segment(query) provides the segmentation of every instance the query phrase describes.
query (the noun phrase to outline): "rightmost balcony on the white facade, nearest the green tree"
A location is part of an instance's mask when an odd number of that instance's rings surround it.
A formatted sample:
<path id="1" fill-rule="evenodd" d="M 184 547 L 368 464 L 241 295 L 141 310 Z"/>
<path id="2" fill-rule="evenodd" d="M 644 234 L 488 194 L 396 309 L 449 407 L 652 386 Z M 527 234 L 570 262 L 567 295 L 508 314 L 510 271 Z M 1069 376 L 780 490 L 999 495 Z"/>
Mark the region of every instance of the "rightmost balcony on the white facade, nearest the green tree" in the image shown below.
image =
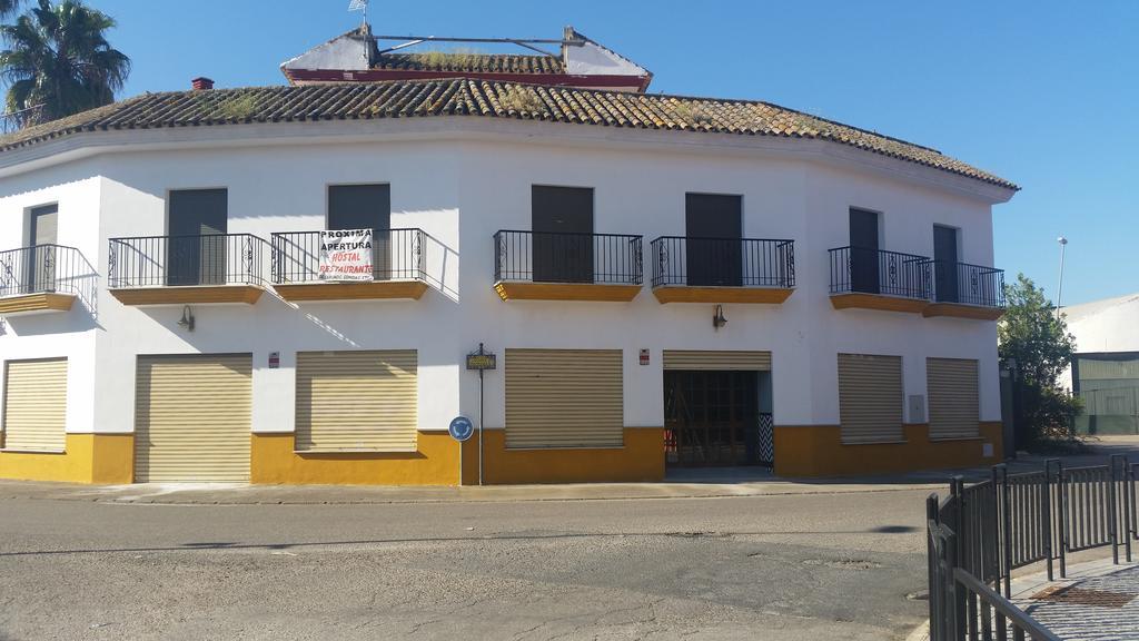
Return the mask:
<path id="1" fill-rule="evenodd" d="M 974 320 L 1005 315 L 1005 270 L 967 262 L 933 261 L 934 302 L 921 314 Z"/>

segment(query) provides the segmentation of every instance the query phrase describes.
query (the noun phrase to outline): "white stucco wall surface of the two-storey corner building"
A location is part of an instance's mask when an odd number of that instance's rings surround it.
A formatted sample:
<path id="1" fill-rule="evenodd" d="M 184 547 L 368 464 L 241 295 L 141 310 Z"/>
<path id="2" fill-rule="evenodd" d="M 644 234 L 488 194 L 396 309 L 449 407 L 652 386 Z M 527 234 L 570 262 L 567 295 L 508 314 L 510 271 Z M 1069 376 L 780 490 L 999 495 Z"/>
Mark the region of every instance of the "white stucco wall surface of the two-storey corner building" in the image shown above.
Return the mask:
<path id="1" fill-rule="evenodd" d="M 167 143 L 62 165 L 66 171 L 0 179 L 0 248 L 23 244 L 13 232 L 23 208 L 59 198 L 60 242 L 82 246 L 105 271 L 108 237 L 166 233 L 170 189 L 227 187 L 229 232 L 269 240 L 273 232 L 322 228 L 328 185 L 387 182 L 392 226 L 420 227 L 437 241 L 436 255 L 443 258 L 431 269 L 442 286 L 419 301 L 296 306 L 269 292 L 255 306 L 194 306 L 192 333 L 177 325 L 180 306 L 126 307 L 101 291 L 98 325 L 77 332 L 88 340 L 83 346 L 44 330 L 59 325 L 21 332 L 9 323 L 0 336 L 3 358 L 65 351 L 75 354 L 73 371 L 85 367 L 85 379 L 73 378 L 72 403 L 79 404 L 73 414 L 81 419 L 69 419 L 69 430 L 132 430 L 137 355 L 251 352 L 254 430 L 272 432 L 294 428 L 296 351 L 408 348 L 419 352 L 420 429 L 441 430 L 458 413 L 477 414 L 477 376 L 461 363 L 480 342 L 499 354 L 500 367 L 511 347 L 623 349 L 629 427 L 663 424 L 664 349 L 770 350 L 780 425 L 837 424 L 839 351 L 901 355 L 907 395 L 925 393 L 926 357 L 976 358 L 980 419 L 1000 417 L 994 323 L 836 311 L 828 298 L 827 250 L 849 244 L 851 206 L 883 213 L 883 249 L 932 255 L 936 222 L 961 228 L 962 260 L 991 265 L 990 204 L 962 195 L 967 189 L 954 188 L 960 182 L 954 177 L 940 188 L 933 170 L 891 173 L 882 170 L 887 161 L 875 159 L 871 164 L 882 167 L 863 170 L 812 153 L 710 145 L 711 138 L 690 133 L 647 136 L 653 144 L 642 145 L 605 131 L 591 131 L 590 140 L 562 137 L 568 130 L 556 127 L 548 136 L 451 132 L 415 141 L 288 140 L 274 139 L 274 129 L 230 131 L 256 136 L 215 148 Z M 491 238 L 498 229 L 531 227 L 534 184 L 592 187 L 595 230 L 642 235 L 646 279 L 649 241 L 683 235 L 686 192 L 739 194 L 746 237 L 795 241 L 797 289 L 781 306 L 726 305 L 729 323 L 720 331 L 712 327 L 713 306 L 662 306 L 648 286 L 631 303 L 502 302 L 492 289 Z M 43 193 L 32 193 L 36 187 Z M 67 241 L 71 235 L 82 238 Z M 75 313 L 51 323 L 82 326 Z M 648 366 L 638 364 L 642 348 L 652 352 Z M 272 351 L 281 355 L 279 370 L 268 368 Z M 75 391 L 80 382 L 83 389 Z M 503 424 L 503 391 L 501 368 L 489 373 L 487 428 Z"/>

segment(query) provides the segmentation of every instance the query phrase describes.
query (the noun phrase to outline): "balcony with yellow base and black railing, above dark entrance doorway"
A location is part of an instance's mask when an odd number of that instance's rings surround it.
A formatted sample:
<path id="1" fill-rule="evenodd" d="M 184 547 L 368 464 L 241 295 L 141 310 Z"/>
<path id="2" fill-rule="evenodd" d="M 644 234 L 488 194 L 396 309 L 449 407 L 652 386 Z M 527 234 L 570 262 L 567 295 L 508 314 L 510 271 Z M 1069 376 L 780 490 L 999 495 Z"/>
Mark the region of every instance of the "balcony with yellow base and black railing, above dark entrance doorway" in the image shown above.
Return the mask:
<path id="1" fill-rule="evenodd" d="M 662 236 L 650 251 L 662 303 L 779 305 L 795 291 L 793 241 Z"/>

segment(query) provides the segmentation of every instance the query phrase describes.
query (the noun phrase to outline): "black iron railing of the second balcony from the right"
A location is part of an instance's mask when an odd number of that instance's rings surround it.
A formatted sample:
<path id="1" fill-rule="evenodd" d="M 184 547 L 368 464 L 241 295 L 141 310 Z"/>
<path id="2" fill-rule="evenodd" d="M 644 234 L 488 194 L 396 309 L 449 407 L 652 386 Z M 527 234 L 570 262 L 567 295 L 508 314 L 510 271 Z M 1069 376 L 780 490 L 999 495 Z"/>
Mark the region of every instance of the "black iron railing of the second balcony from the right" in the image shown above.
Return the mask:
<path id="1" fill-rule="evenodd" d="M 931 260 L 868 248 L 830 250 L 830 293 L 867 293 L 928 299 Z"/>

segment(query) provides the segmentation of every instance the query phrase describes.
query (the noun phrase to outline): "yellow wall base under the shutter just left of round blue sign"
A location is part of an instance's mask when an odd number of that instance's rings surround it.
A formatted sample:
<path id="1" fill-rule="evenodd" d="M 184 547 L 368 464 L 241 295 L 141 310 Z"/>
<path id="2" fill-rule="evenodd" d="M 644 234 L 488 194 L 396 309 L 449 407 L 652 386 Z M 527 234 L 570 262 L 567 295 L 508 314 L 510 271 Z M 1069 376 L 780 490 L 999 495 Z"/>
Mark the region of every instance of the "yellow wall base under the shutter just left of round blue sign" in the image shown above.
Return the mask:
<path id="1" fill-rule="evenodd" d="M 296 453 L 292 433 L 253 435 L 255 484 L 457 485 L 459 444 L 446 432 L 419 432 L 417 452 Z"/>

